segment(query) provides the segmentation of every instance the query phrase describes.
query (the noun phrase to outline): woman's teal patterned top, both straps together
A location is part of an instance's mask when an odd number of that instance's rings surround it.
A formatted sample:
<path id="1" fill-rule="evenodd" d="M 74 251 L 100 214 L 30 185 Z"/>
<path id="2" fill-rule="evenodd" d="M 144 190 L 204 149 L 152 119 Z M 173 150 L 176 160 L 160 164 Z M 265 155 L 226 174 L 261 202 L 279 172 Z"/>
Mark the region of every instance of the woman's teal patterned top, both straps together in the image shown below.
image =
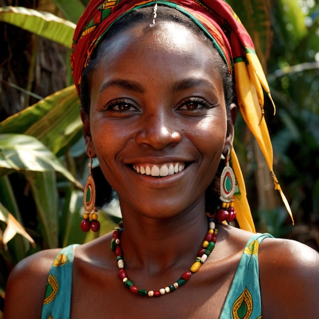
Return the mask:
<path id="1" fill-rule="evenodd" d="M 220 319 L 259 319 L 261 299 L 259 287 L 258 248 L 270 234 L 254 234 L 248 241 L 238 264 Z M 72 288 L 72 264 L 78 245 L 63 248 L 52 263 L 41 319 L 69 319 Z"/>

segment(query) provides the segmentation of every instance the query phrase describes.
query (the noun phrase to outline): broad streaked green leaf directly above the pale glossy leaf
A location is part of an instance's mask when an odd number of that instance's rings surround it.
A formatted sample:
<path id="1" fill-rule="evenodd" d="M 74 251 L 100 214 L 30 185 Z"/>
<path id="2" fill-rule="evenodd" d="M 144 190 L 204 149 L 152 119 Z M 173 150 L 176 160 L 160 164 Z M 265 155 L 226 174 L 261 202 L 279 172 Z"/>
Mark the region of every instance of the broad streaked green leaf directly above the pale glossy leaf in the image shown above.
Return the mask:
<path id="1" fill-rule="evenodd" d="M 82 121 L 75 86 L 72 85 L 0 123 L 0 134 L 18 133 L 37 138 L 55 154 L 82 137 Z"/>

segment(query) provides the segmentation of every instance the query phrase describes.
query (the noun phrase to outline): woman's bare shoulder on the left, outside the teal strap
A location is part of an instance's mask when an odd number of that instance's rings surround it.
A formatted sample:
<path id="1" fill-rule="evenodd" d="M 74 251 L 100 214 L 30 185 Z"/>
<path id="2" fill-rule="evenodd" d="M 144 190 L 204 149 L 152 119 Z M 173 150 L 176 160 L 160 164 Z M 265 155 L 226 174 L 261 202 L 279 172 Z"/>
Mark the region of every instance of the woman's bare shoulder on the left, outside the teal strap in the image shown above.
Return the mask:
<path id="1" fill-rule="evenodd" d="M 47 276 L 59 249 L 44 250 L 21 260 L 6 285 L 5 318 L 40 318 Z"/>

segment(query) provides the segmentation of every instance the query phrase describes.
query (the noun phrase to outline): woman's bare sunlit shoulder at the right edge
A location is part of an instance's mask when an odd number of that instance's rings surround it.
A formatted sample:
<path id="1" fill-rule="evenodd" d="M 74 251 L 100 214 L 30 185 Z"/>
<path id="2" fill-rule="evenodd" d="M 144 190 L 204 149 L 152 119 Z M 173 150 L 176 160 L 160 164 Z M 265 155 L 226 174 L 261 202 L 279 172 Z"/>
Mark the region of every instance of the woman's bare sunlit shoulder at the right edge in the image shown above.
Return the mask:
<path id="1" fill-rule="evenodd" d="M 259 249 L 263 317 L 313 318 L 319 314 L 319 254 L 292 240 L 264 240 Z"/>

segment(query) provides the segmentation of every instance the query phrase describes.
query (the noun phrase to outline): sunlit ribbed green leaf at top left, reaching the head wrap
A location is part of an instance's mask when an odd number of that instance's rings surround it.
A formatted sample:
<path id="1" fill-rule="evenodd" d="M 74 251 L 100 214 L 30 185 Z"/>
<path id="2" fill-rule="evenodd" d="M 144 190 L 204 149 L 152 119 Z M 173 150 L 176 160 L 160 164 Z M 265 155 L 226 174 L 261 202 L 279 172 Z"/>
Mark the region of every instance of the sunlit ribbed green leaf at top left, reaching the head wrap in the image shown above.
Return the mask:
<path id="1" fill-rule="evenodd" d="M 72 45 L 75 24 L 54 14 L 9 6 L 0 8 L 0 21 L 19 26 L 66 47 Z"/>

